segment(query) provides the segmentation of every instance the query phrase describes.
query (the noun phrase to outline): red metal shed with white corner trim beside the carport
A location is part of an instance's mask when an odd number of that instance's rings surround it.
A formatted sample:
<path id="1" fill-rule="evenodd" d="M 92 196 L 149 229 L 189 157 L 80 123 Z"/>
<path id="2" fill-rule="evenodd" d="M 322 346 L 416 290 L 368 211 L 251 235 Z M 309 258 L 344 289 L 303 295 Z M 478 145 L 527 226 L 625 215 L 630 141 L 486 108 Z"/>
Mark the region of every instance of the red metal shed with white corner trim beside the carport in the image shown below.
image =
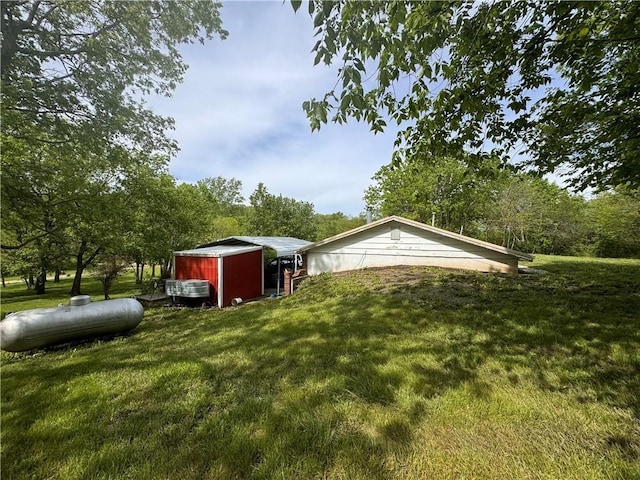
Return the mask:
<path id="1" fill-rule="evenodd" d="M 173 278 L 208 280 L 211 303 L 231 305 L 234 298 L 264 294 L 262 247 L 217 246 L 173 254 Z"/>

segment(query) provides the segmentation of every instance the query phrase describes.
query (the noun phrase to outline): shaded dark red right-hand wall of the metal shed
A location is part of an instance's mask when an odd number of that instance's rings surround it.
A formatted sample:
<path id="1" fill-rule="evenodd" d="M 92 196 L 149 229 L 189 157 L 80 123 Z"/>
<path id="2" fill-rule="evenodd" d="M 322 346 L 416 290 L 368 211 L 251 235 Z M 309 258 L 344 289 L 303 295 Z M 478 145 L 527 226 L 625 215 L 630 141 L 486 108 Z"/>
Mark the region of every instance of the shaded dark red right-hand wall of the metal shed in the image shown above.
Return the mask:
<path id="1" fill-rule="evenodd" d="M 262 250 L 224 257 L 223 261 L 222 306 L 231 305 L 235 297 L 247 300 L 262 295 Z"/>

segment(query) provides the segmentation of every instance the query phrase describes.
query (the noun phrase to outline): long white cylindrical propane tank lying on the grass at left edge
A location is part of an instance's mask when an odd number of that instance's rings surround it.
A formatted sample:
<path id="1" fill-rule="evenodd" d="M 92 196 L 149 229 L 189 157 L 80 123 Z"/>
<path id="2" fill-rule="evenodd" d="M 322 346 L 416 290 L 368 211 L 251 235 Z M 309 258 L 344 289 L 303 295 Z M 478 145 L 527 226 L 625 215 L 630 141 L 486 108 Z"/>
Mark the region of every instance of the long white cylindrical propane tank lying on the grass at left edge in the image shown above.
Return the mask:
<path id="1" fill-rule="evenodd" d="M 71 340 L 126 332 L 142 321 L 144 308 L 133 298 L 91 303 L 88 295 L 69 305 L 10 313 L 0 321 L 0 348 L 24 352 Z"/>

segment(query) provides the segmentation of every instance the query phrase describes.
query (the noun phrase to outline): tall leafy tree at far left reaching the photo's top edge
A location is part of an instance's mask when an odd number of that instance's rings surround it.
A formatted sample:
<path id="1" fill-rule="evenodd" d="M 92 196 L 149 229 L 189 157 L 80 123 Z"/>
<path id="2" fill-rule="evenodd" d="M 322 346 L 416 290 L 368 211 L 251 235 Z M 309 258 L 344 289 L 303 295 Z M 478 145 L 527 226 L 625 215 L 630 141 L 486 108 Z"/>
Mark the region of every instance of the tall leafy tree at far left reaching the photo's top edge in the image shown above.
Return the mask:
<path id="1" fill-rule="evenodd" d="M 84 269 L 125 246 L 124 181 L 142 167 L 162 173 L 168 157 L 158 153 L 175 148 L 166 137 L 172 120 L 146 108 L 145 97 L 168 96 L 182 79 L 179 44 L 226 37 L 219 8 L 0 3 L 3 229 L 10 232 L 2 248 L 29 249 L 40 292 L 60 258 L 75 260 L 77 294 Z"/>

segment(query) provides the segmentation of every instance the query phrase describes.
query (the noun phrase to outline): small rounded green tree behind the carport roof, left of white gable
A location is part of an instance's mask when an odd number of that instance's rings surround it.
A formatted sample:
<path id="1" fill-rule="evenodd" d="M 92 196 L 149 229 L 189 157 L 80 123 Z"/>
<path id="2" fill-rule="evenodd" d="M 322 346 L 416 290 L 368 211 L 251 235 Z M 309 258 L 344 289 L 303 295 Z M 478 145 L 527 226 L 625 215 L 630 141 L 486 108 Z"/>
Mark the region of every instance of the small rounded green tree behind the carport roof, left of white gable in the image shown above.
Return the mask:
<path id="1" fill-rule="evenodd" d="M 311 203 L 272 195 L 263 183 L 258 184 L 249 202 L 250 235 L 315 238 L 315 213 Z"/>

